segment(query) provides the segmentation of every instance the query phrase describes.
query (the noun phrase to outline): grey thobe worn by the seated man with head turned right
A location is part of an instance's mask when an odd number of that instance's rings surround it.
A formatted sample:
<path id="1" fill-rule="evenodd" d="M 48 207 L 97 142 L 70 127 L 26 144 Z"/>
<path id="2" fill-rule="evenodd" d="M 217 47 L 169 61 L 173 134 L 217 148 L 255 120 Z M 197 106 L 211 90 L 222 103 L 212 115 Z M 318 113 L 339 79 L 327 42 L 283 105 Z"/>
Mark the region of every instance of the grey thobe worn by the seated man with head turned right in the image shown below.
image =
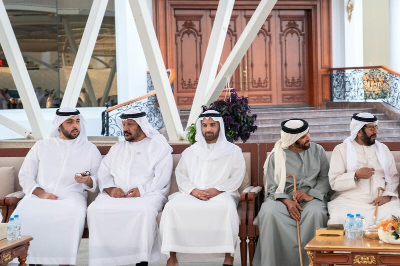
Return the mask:
<path id="1" fill-rule="evenodd" d="M 304 246 L 314 237 L 317 227 L 326 227 L 328 212 L 326 197 L 330 190 L 329 162 L 323 148 L 310 142 L 310 148 L 301 153 L 285 149 L 286 174 L 296 178 L 297 190 L 314 197 L 312 201 L 300 202 L 300 237 L 303 265 L 308 265 Z M 254 266 L 298 266 L 296 221 L 286 206 L 278 199 L 292 199 L 293 179 L 286 180 L 284 192 L 276 194 L 274 181 L 274 154 L 269 157 L 266 176 L 266 200 L 258 213 L 259 238 L 253 259 Z"/>

